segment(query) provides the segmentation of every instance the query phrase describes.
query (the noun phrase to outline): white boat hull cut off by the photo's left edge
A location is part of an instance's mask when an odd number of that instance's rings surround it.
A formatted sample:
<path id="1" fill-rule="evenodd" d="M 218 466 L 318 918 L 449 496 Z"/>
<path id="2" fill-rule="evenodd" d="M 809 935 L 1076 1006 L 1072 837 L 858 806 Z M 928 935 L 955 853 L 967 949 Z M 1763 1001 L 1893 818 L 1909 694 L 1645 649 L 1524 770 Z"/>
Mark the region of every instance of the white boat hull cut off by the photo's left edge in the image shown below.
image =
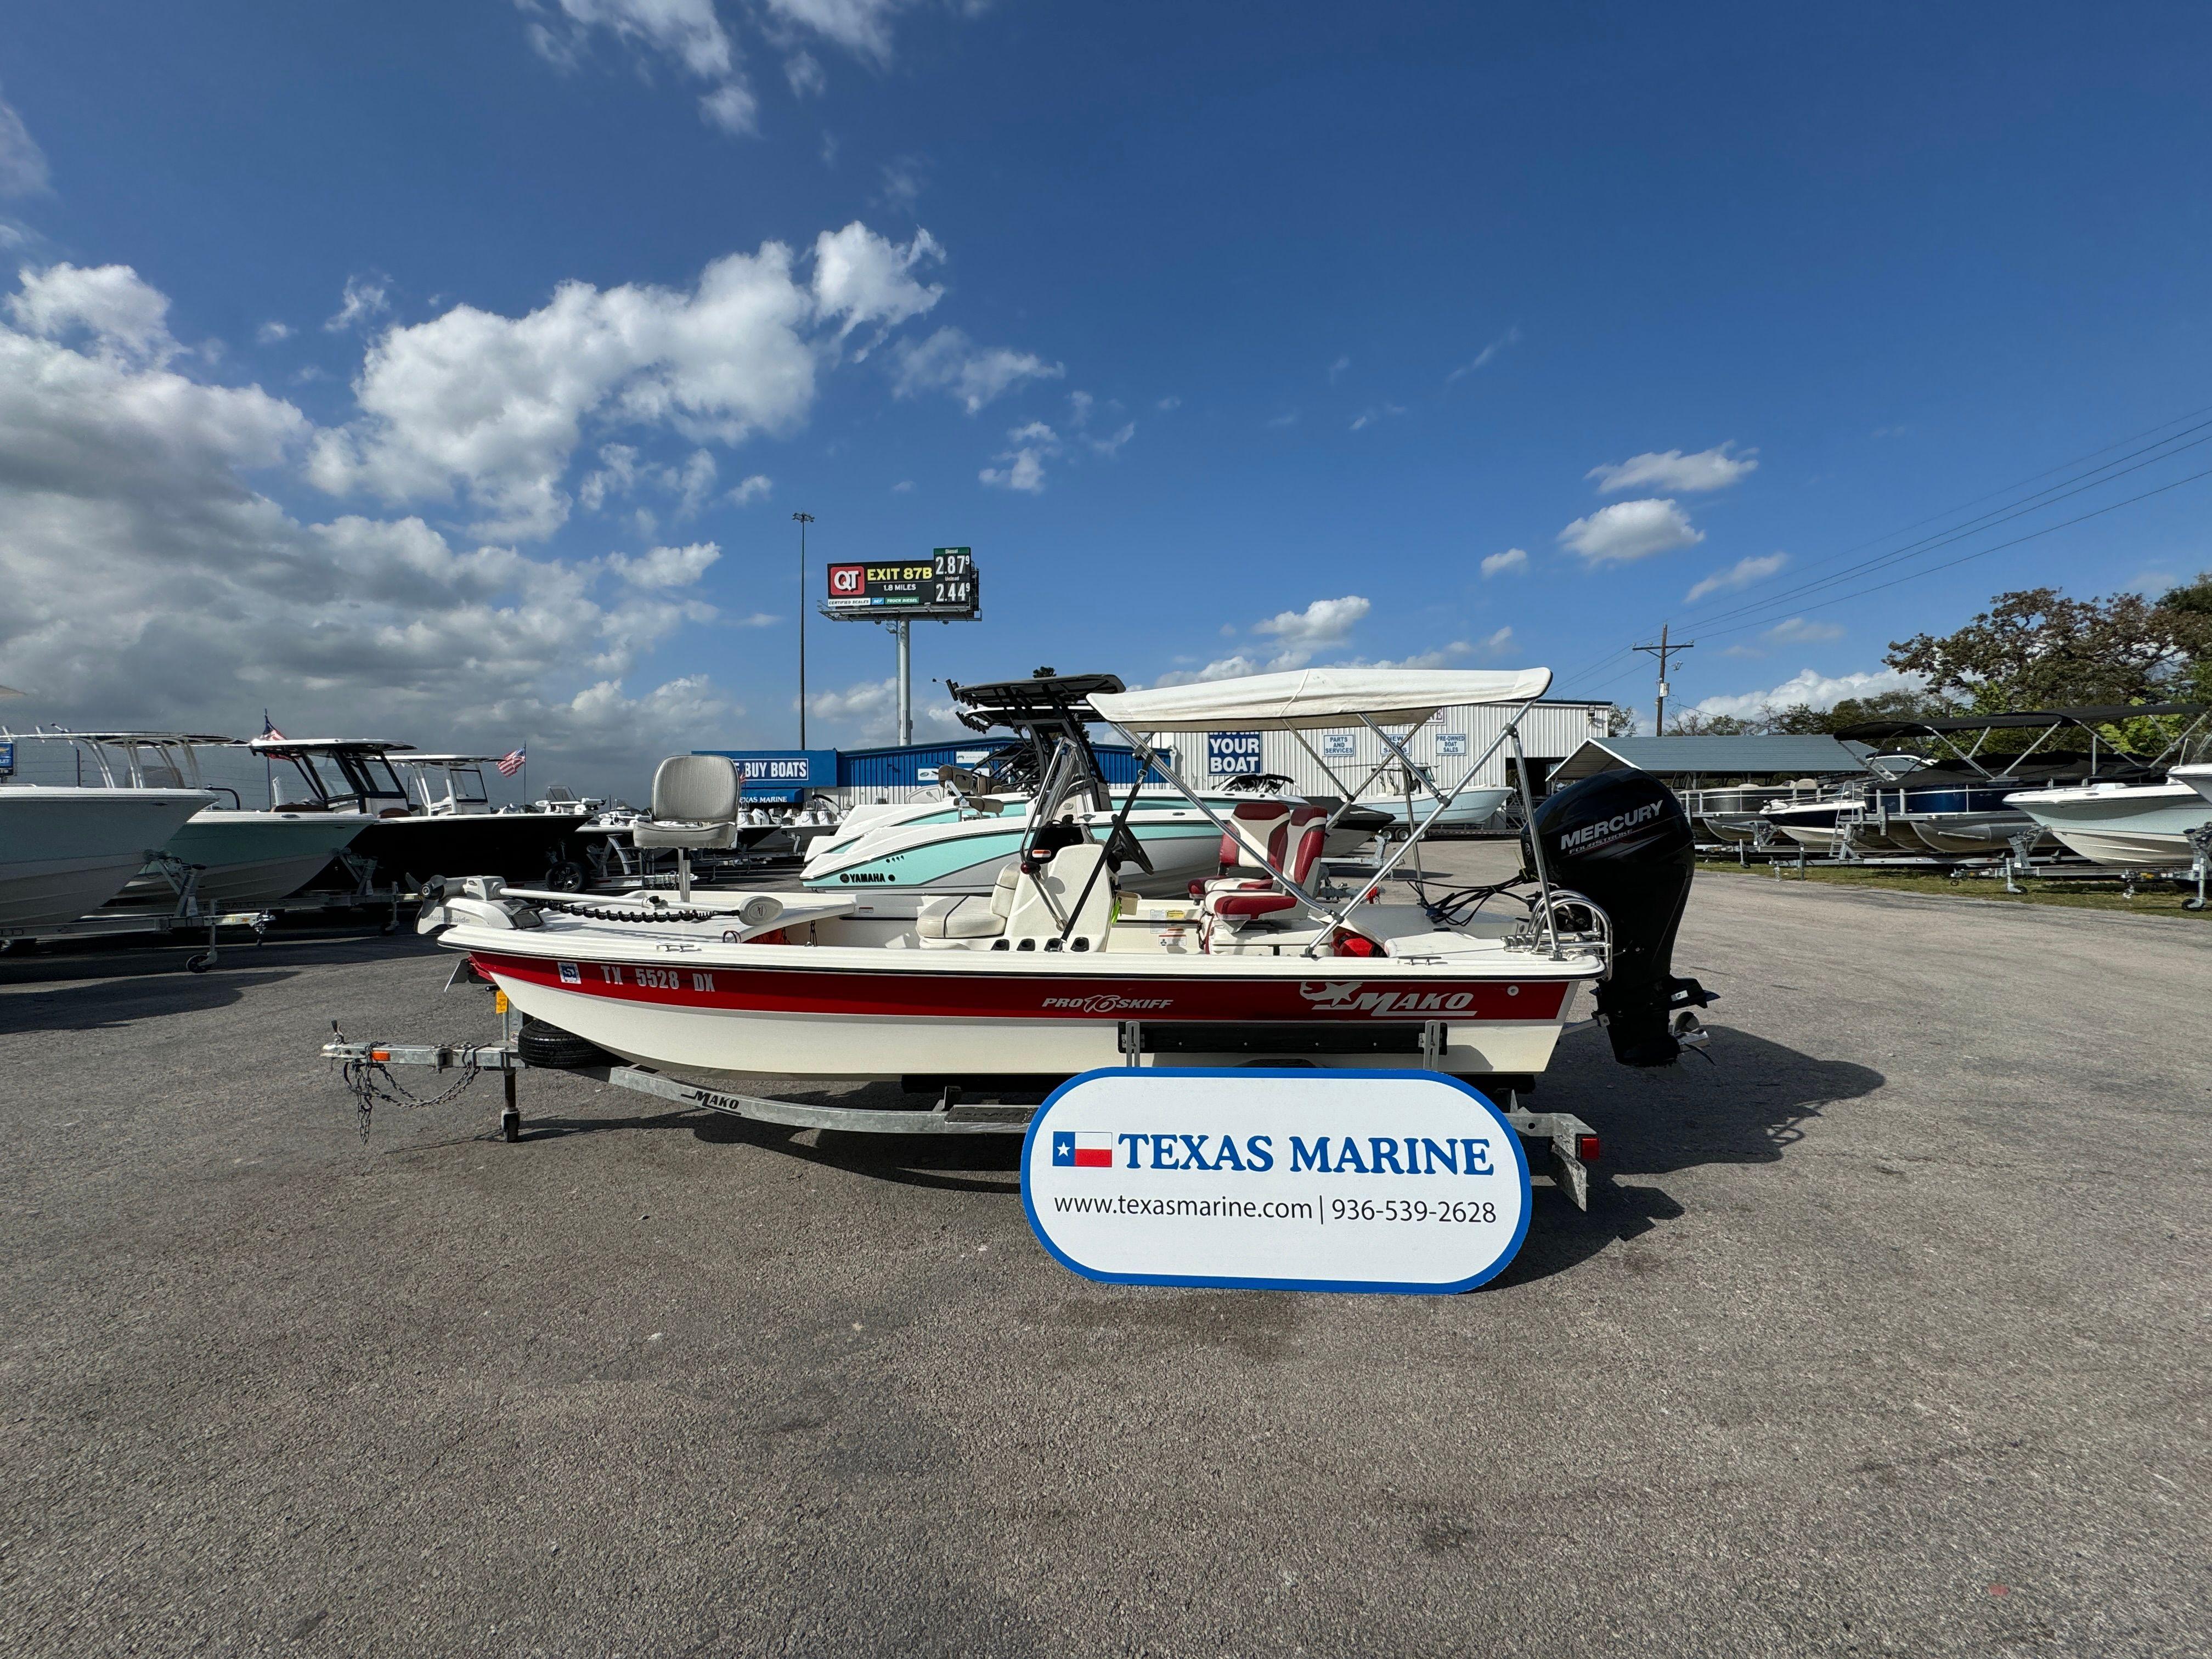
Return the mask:
<path id="1" fill-rule="evenodd" d="M 100 909 L 212 799 L 206 790 L 0 790 L 0 933 Z"/>

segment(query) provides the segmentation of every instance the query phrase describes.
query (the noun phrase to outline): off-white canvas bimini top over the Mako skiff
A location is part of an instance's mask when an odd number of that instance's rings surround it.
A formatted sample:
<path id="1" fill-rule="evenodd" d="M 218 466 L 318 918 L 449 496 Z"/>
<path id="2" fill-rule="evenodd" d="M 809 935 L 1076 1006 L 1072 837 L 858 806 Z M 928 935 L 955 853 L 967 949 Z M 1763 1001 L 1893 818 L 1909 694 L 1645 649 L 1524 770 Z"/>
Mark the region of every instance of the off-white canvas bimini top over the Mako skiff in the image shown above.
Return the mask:
<path id="1" fill-rule="evenodd" d="M 1148 692 L 1093 692 L 1091 706 L 1130 732 L 1316 732 L 1420 726 L 1440 708 L 1526 703 L 1551 688 L 1548 668 L 1298 668 Z"/>

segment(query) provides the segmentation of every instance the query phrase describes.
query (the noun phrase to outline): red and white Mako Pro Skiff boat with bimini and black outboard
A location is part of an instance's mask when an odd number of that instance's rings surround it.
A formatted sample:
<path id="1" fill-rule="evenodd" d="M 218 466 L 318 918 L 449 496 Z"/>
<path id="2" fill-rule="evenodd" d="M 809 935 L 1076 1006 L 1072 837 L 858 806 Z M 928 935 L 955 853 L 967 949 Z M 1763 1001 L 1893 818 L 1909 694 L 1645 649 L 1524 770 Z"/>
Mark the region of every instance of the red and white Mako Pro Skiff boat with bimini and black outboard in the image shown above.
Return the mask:
<path id="1" fill-rule="evenodd" d="M 1531 869 L 1517 883 L 1383 900 L 1391 869 L 1491 754 L 1520 752 L 1517 723 L 1548 684 L 1546 668 L 1314 668 L 1091 690 L 1139 776 L 1157 770 L 1210 825 L 1217 874 L 1175 898 L 1124 889 L 1117 865 L 1135 863 L 1124 832 L 1144 801 L 1130 785 L 1097 838 L 1091 825 L 1029 814 L 989 894 L 695 894 L 679 874 L 675 896 L 580 900 L 469 878 L 434 894 L 418 929 L 465 953 L 524 1015 L 637 1066 L 717 1079 L 1035 1086 L 1113 1064 L 1290 1057 L 1436 1068 L 1502 1093 L 1548 1064 L 1584 987 L 1619 1060 L 1666 1064 L 1699 1040 L 1694 1009 L 1708 998 L 1668 967 L 1692 860 L 1688 821 L 1657 781 L 1608 772 L 1531 803 Z M 1340 900 L 1312 885 L 1323 810 L 1245 801 L 1219 812 L 1152 748 L 1166 732 L 1418 726 L 1460 703 L 1515 710 Z M 723 757 L 668 759 L 639 843 L 728 845 L 741 794 Z M 1480 909 L 1504 894 L 1517 916 Z"/>

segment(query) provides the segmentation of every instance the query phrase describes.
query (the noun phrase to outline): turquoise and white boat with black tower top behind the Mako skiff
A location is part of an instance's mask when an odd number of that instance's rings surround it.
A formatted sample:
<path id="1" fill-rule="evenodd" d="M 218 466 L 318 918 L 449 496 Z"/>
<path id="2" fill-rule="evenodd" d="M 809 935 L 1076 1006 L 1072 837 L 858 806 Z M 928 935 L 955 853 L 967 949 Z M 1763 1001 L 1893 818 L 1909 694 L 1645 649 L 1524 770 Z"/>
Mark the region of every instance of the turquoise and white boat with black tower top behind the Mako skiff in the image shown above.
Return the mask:
<path id="1" fill-rule="evenodd" d="M 989 686 L 947 688 L 973 732 L 1013 732 L 973 768 L 938 768 L 945 801 L 858 805 L 814 841 L 801 880 L 821 889 L 894 889 L 989 894 L 1037 823 L 1064 821 L 1102 836 L 1115 821 L 1113 796 L 1088 726 L 1099 723 L 1095 692 L 1119 692 L 1115 675 L 1048 675 Z M 1206 794 L 1214 812 L 1243 801 L 1276 799 L 1287 779 L 1237 779 Z M 1489 792 L 1482 792 L 1489 794 Z M 1389 827 L 1389 816 L 1345 801 L 1301 796 L 1329 807 L 1325 852 L 1345 856 Z M 1491 803 L 1495 805 L 1495 803 Z M 1124 889 L 1144 896 L 1183 894 L 1192 880 L 1219 874 L 1221 834 L 1181 792 L 1139 783 L 1121 814 L 1115 858 Z"/>

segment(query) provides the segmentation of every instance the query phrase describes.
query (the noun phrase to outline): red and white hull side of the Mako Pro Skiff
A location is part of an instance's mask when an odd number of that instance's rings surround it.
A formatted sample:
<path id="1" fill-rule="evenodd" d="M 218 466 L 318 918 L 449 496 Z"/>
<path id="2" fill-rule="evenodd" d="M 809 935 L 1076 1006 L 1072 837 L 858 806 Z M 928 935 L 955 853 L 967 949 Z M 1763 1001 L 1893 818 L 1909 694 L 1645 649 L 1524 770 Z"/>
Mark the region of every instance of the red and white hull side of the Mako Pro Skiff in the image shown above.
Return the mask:
<path id="1" fill-rule="evenodd" d="M 1343 973 L 1338 962 L 1144 973 L 1066 958 L 1018 971 L 814 969 L 546 958 L 467 947 L 476 969 L 538 1020 L 637 1064 L 714 1075 L 838 1079 L 1037 1075 L 1126 1064 L 1121 1024 L 1444 1024 L 1440 1066 L 1462 1075 L 1537 1073 L 1551 1062 L 1575 980 L 1453 973 Z M 743 947 L 739 947 L 743 951 Z M 810 951 L 812 956 L 812 951 Z M 666 964 L 666 967 L 664 967 Z M 1316 1066 L 1416 1066 L 1411 1053 L 1298 1055 Z M 1237 1053 L 1175 1053 L 1161 1064 L 1245 1064 Z"/>

